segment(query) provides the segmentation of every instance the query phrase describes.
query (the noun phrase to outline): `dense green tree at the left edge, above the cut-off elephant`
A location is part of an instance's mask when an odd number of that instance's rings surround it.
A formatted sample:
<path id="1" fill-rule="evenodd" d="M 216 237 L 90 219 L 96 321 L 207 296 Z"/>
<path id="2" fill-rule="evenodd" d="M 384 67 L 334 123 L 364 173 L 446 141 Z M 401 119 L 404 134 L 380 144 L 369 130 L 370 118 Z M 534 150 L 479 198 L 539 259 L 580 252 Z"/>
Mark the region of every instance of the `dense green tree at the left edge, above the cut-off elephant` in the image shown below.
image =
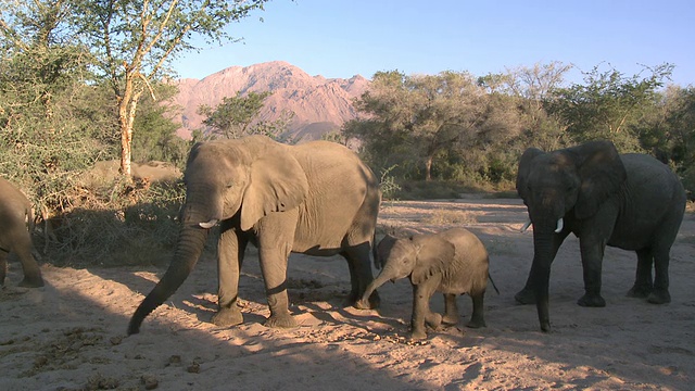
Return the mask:
<path id="1" fill-rule="evenodd" d="M 63 1 L 0 2 L 0 172 L 40 210 L 70 204 L 77 173 L 108 146 L 89 52 L 70 30 Z"/>

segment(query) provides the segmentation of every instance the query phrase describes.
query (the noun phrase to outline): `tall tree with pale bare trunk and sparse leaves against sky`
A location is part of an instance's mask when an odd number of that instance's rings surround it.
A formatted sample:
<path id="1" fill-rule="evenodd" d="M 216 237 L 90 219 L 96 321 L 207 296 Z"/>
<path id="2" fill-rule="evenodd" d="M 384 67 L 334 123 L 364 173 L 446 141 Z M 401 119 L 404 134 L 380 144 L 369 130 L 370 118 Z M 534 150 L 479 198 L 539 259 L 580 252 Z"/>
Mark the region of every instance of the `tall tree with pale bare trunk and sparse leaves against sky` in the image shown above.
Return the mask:
<path id="1" fill-rule="evenodd" d="M 225 27 L 268 0 L 77 0 L 74 23 L 94 50 L 98 73 L 109 80 L 117 104 L 121 172 L 130 177 L 135 116 L 151 85 L 173 75 L 170 61 L 194 49 L 192 38 L 207 42 L 232 39 Z"/>

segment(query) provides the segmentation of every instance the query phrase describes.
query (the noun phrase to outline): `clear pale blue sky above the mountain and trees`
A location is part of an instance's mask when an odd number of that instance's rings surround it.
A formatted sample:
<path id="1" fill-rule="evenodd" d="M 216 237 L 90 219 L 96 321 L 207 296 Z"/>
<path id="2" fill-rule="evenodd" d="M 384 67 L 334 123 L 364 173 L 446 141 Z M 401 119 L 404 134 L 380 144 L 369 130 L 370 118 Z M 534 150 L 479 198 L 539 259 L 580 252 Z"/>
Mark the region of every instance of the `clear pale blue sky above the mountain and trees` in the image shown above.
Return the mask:
<path id="1" fill-rule="evenodd" d="M 260 18 L 263 17 L 263 22 Z M 467 71 L 477 76 L 559 61 L 580 71 L 675 65 L 695 85 L 693 0 L 273 0 L 229 26 L 243 42 L 203 42 L 174 63 L 203 78 L 233 65 L 281 60 L 309 75 L 349 78 Z"/>

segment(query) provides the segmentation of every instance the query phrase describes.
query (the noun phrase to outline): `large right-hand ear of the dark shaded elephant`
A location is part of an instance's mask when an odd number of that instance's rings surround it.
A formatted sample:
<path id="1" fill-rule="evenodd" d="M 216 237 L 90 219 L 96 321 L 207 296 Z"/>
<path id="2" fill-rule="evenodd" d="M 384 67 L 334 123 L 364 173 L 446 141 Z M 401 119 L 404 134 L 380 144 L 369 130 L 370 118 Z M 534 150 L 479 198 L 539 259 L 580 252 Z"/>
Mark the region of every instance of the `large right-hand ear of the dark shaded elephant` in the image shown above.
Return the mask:
<path id="1" fill-rule="evenodd" d="M 616 146 L 610 141 L 591 141 L 582 146 L 568 148 L 578 162 L 581 179 L 574 215 L 587 218 L 598 212 L 598 207 L 608 198 L 620 191 L 628 178 Z"/>

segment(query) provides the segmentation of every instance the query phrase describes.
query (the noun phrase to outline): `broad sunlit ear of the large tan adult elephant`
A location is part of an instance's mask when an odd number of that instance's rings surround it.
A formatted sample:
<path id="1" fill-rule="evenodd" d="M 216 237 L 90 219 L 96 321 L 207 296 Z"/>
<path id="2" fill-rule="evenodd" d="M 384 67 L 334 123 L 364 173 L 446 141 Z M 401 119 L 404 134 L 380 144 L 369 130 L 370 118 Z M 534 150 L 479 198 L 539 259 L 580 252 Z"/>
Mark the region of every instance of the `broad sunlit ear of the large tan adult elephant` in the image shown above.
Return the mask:
<path id="1" fill-rule="evenodd" d="M 241 229 L 248 230 L 270 212 L 300 205 L 308 193 L 308 180 L 300 163 L 283 150 L 264 153 L 251 164 L 241 202 Z"/>

